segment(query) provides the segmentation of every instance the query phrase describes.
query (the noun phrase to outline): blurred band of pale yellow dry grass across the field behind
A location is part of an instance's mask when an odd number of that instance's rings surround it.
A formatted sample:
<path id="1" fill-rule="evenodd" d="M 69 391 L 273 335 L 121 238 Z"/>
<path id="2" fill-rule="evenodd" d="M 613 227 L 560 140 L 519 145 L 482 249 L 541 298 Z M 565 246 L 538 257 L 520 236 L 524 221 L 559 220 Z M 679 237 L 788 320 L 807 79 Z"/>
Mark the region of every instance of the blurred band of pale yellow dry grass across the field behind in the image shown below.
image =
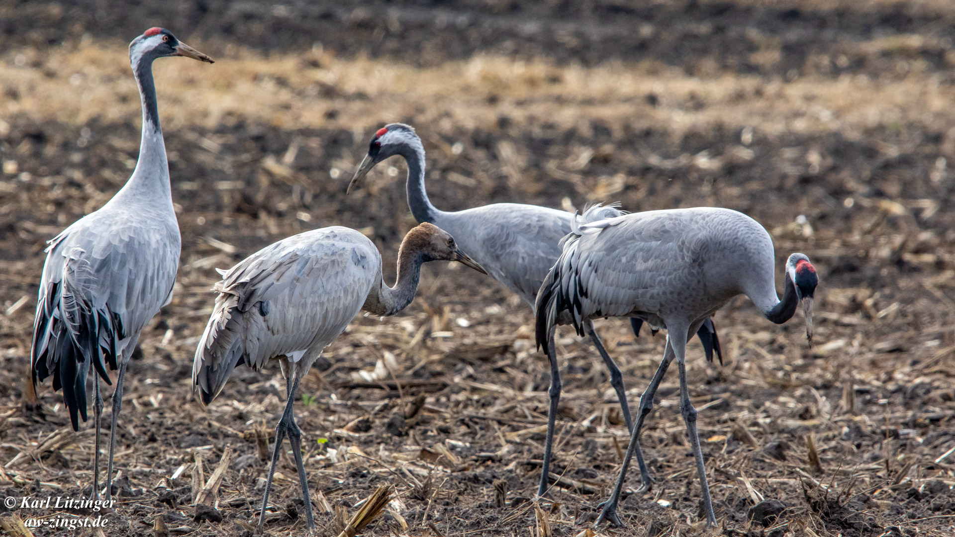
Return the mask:
<path id="1" fill-rule="evenodd" d="M 848 54 L 878 55 L 923 41 L 920 35 L 882 38 Z M 778 46 L 773 40 L 767 54 L 777 54 Z M 839 132 L 858 140 L 873 128 L 951 122 L 955 100 L 955 88 L 926 74 L 920 59 L 906 60 L 902 79 L 843 75 L 783 82 L 729 74 L 701 78 L 649 61 L 585 68 L 478 55 L 416 68 L 388 60 L 341 60 L 320 50 L 264 57 L 227 47 L 215 53 L 218 62 L 211 66 L 183 59 L 157 62 L 167 130 L 245 120 L 286 129 L 366 131 L 409 118 L 441 130 L 473 130 L 494 128 L 503 116 L 519 123 L 546 118 L 560 128 L 581 118 L 618 129 L 666 124 L 676 138 L 688 130 L 750 126 L 771 136 Z M 127 53 L 115 42 L 11 51 L 2 59 L 0 84 L 18 96 L 4 103 L 7 114 L 72 124 L 138 116 Z"/>

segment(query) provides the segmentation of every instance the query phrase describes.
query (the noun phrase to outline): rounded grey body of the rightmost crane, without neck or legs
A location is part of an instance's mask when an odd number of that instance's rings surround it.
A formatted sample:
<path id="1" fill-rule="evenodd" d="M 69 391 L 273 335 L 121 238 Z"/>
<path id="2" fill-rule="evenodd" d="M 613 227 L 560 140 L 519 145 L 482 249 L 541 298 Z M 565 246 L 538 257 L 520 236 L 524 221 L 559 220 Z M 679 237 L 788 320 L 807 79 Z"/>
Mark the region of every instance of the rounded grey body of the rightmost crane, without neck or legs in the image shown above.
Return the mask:
<path id="1" fill-rule="evenodd" d="M 742 213 L 646 211 L 585 224 L 580 233 L 568 238 L 555 270 L 579 333 L 597 317 L 692 324 L 741 293 L 762 311 L 778 302 L 773 241 Z"/>

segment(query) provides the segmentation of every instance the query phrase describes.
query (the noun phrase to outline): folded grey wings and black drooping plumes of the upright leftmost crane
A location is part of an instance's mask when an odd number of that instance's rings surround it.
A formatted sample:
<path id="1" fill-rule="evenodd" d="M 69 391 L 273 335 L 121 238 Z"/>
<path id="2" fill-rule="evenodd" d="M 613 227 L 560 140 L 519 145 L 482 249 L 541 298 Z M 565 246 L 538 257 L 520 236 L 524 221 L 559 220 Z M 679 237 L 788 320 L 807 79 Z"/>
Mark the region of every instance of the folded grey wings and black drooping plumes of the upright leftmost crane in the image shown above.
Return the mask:
<path id="1" fill-rule="evenodd" d="M 91 365 L 111 383 L 106 365 L 117 369 L 128 343 L 169 302 L 180 257 L 178 227 L 96 216 L 50 241 L 33 325 L 33 383 L 53 373 L 74 429 L 77 414 L 87 418 Z"/>

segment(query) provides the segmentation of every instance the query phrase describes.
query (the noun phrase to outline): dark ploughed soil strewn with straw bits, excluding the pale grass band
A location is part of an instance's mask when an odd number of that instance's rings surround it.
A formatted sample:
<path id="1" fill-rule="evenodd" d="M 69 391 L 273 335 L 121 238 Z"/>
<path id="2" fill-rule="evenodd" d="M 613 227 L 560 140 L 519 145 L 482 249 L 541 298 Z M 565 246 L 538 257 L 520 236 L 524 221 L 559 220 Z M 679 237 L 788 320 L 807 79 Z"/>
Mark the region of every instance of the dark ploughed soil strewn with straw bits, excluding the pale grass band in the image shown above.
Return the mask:
<path id="1" fill-rule="evenodd" d="M 944 58 L 952 54 L 953 27 L 946 21 L 955 16 L 886 3 L 865 11 L 731 2 L 589 2 L 586 9 L 518 1 L 114 4 L 4 1 L 0 48 L 58 47 L 85 32 L 127 40 L 161 23 L 183 39 L 287 54 L 320 41 L 346 56 L 421 64 L 495 52 L 584 64 L 649 59 L 688 73 L 712 66 L 704 61 L 709 59 L 717 71 L 770 79 L 792 70 L 801 75 L 810 56 L 838 58 L 845 54 L 840 47 L 857 50 L 850 45 L 860 40 L 914 33 L 931 37 L 924 49 L 859 53 L 845 67 L 812 75 L 892 77 L 898 72 L 886 66 L 900 54 L 920 54 L 941 58 L 929 63 L 939 83 L 948 83 Z M 643 25 L 652 32 L 640 30 Z M 782 39 L 778 61 L 749 63 L 751 29 Z M 105 202 L 128 176 L 124 161 L 137 157 L 128 140 L 138 140 L 138 118 L 84 125 L 88 136 L 65 122 L 0 118 L 10 127 L 0 136 L 0 157 L 16 161 L 18 170 L 0 176 L 0 301 L 11 309 L 0 314 L 0 462 L 7 464 L 0 486 L 13 497 L 78 497 L 89 493 L 92 481 L 93 435 L 89 423 L 70 432 L 61 396 L 49 385 L 31 400 L 33 297 L 45 241 Z M 414 123 L 414 117 L 408 120 Z M 579 127 L 565 130 L 545 119 L 518 124 L 506 118 L 496 130 L 430 129 L 430 193 L 441 208 L 504 201 L 560 207 L 564 198 L 580 207 L 602 179 L 621 173 L 626 179 L 607 201 L 634 211 L 731 207 L 773 233 L 777 266 L 790 252 L 803 251 L 819 270 L 815 348 L 807 347 L 798 318 L 771 325 L 742 297 L 714 317 L 725 365 L 705 363 L 696 343 L 690 348 L 691 396 L 700 409 L 716 515 L 726 529 L 699 524 L 700 486 L 674 377 L 658 392 L 642 437 L 657 483 L 650 492 L 628 494 L 620 508 L 628 527 L 612 534 L 950 534 L 955 456 L 940 456 L 955 447 L 955 182 L 950 173 L 933 176 L 939 157 L 951 152 L 948 127 L 902 120 L 851 140 L 838 132 L 757 133 L 747 143 L 750 159 L 727 159 L 716 169 L 696 165 L 690 156 L 732 153 L 741 144 L 740 130 L 695 130 L 674 140 L 666 124 L 628 130 L 599 118 L 582 118 Z M 167 149 L 176 155 L 170 173 L 180 205 L 180 275 L 174 301 L 143 332 L 141 353 L 129 366 L 117 433 L 119 505 L 107 515 L 107 535 L 151 534 L 159 518 L 172 535 L 245 536 L 254 530 L 285 383 L 277 368 L 258 374 L 240 368 L 209 408 L 193 399 L 192 356 L 211 306 L 208 289 L 218 279 L 215 268 L 292 233 L 331 225 L 371 227 L 386 277 L 393 278 L 397 244 L 414 225 L 403 181 L 373 195 L 346 197 L 348 173 L 333 182 L 327 173 L 339 155 L 357 161 L 370 135 L 244 122 L 165 133 Z M 200 138 L 214 140 L 217 150 L 198 145 Z M 460 141 L 464 151 L 452 156 L 435 140 Z M 527 156 L 520 187 L 500 171 L 500 140 Z M 264 162 L 281 159 L 293 141 L 300 146 L 289 167 L 297 179 L 277 177 Z M 548 161 L 579 146 L 609 149 L 580 171 L 580 179 L 546 171 Z M 816 164 L 807 161 L 810 150 L 818 154 Z M 493 181 L 476 188 L 443 180 L 462 169 Z M 796 224 L 800 215 L 812 233 Z M 320 535 L 337 535 L 335 510 L 350 516 L 380 484 L 395 485 L 400 501 L 365 535 L 535 535 L 529 528 L 539 523 L 528 499 L 540 478 L 549 375 L 533 347 L 530 309 L 489 278 L 435 265 L 424 270 L 420 298 L 407 311 L 383 322 L 357 317 L 304 382 L 296 416 Z M 12 309 L 21 296 L 27 302 Z M 620 320 L 605 321 L 598 331 L 635 404 L 662 355 L 662 334 L 634 339 Z M 432 336 L 447 332 L 453 336 Z M 569 330 L 559 334 L 559 345 L 566 373 L 552 471 L 578 484 L 555 486 L 556 503 L 542 515 L 554 535 L 577 535 L 584 526 L 574 523 L 595 518 L 616 477 L 626 429 L 592 347 Z M 396 356 L 393 377 L 372 382 L 358 375 L 371 372 L 386 354 Z M 414 404 L 420 396 L 423 406 Z M 411 412 L 414 406 L 420 410 Z M 36 452 L 58 432 L 64 441 Z M 809 462 L 808 442 L 819 467 Z M 234 456 L 218 505 L 197 513 L 191 506 L 197 454 L 208 477 L 226 446 Z M 105 465 L 101 476 L 104 471 Z M 267 531 L 304 534 L 290 456 L 278 472 Z M 636 486 L 635 474 L 627 483 Z M 331 512 L 322 508 L 319 493 Z M 775 520 L 763 515 L 765 524 L 751 523 L 753 506 L 766 501 L 783 508 Z M 23 518 L 54 514 L 14 511 Z M 62 532 L 39 528 L 34 534 Z"/>

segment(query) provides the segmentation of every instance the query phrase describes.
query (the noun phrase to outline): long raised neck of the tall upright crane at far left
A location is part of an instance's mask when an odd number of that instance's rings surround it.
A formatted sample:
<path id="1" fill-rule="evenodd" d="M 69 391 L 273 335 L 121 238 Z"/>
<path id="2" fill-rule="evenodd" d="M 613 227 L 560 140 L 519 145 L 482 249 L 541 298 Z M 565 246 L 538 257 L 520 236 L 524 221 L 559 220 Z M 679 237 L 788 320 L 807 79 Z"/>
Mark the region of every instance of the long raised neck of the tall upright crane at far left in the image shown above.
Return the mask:
<path id="1" fill-rule="evenodd" d="M 138 201 L 150 205 L 162 204 L 158 208 L 172 209 L 169 163 L 166 161 L 162 129 L 159 128 L 156 85 L 153 83 L 153 59 L 150 54 L 142 54 L 134 59 L 133 75 L 136 77 L 139 98 L 142 101 L 142 137 L 139 141 L 136 169 L 117 194 L 117 198 L 127 204 Z"/>

